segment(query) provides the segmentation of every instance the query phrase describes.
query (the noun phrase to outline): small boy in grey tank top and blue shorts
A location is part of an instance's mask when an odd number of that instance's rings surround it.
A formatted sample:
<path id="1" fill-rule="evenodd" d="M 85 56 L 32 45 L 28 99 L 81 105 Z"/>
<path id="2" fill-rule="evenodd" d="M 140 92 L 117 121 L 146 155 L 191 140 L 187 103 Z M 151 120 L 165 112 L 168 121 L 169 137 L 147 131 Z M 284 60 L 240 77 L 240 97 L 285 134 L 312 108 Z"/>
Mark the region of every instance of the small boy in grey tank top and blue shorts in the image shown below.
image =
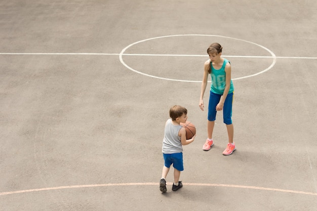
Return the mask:
<path id="1" fill-rule="evenodd" d="M 165 193 L 166 189 L 166 177 L 170 171 L 170 166 L 174 167 L 174 183 L 172 190 L 176 191 L 183 187 L 181 181 L 179 181 L 180 172 L 184 170 L 183 166 L 183 148 L 182 145 L 190 144 L 194 141 L 195 136 L 186 140 L 186 130 L 180 123 L 185 123 L 187 120 L 187 109 L 175 105 L 170 109 L 170 117 L 165 123 L 164 139 L 163 139 L 163 157 L 164 166 L 162 171 L 162 179 L 160 180 L 160 190 Z"/>

